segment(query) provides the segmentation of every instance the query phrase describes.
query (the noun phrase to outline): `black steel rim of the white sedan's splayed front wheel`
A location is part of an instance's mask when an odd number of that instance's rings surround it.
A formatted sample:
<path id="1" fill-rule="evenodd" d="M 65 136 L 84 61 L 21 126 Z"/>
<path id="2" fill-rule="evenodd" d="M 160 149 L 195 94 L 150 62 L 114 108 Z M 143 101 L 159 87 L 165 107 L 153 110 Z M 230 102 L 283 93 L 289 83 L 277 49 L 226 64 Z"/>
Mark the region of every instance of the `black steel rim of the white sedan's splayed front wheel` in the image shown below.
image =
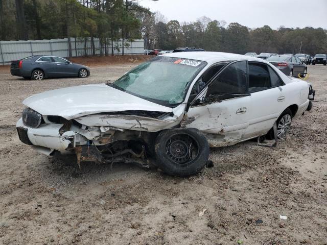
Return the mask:
<path id="1" fill-rule="evenodd" d="M 166 141 L 166 155 L 174 163 L 185 165 L 199 155 L 199 142 L 190 134 L 174 134 Z"/>

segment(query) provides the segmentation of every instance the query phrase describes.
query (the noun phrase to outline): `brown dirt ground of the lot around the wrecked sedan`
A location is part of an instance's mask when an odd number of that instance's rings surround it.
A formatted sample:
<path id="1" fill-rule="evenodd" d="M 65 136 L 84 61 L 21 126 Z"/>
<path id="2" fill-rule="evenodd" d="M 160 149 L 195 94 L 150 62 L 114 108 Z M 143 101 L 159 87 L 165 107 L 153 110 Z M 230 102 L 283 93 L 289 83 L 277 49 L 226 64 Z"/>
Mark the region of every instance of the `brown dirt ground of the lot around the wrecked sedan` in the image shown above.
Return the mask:
<path id="1" fill-rule="evenodd" d="M 276 148 L 211 149 L 214 167 L 191 178 L 126 164 L 79 169 L 19 141 L 27 96 L 113 81 L 137 62 L 91 66 L 86 79 L 24 80 L 0 69 L 0 244 L 327 244 L 325 66 L 309 66 L 313 109 Z"/>

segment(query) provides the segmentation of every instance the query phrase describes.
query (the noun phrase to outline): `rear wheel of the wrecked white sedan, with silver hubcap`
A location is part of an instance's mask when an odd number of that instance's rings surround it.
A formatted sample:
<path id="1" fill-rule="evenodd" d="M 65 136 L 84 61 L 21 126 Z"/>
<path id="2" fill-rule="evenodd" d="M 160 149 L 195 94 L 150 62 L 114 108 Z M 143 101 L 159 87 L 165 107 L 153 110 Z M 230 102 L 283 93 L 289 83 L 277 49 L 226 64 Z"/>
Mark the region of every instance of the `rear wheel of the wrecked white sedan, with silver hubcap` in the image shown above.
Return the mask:
<path id="1" fill-rule="evenodd" d="M 277 119 L 277 137 L 278 139 L 284 139 L 287 135 L 287 132 L 290 130 L 290 126 L 292 123 L 292 111 L 287 108 L 285 111 L 283 111 L 283 113 L 278 117 Z M 285 120 L 287 118 L 287 120 Z M 283 123 L 286 122 L 286 123 Z M 283 127 L 284 124 L 284 127 Z M 266 135 L 267 139 L 274 139 L 274 130 L 273 128 L 271 128 L 267 135 Z"/>

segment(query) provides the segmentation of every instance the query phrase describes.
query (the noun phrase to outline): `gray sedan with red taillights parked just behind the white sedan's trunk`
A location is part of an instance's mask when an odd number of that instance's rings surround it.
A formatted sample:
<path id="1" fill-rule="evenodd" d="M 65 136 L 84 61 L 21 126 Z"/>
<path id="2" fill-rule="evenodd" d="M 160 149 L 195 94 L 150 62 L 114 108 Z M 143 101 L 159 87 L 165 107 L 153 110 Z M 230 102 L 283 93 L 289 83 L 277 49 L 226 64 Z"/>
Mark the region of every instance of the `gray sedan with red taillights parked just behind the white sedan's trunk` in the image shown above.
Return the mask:
<path id="1" fill-rule="evenodd" d="M 271 56 L 266 61 L 270 62 L 281 70 L 285 75 L 297 77 L 300 73 L 307 72 L 307 65 L 302 64 L 302 61 L 295 56 L 278 55 Z"/>

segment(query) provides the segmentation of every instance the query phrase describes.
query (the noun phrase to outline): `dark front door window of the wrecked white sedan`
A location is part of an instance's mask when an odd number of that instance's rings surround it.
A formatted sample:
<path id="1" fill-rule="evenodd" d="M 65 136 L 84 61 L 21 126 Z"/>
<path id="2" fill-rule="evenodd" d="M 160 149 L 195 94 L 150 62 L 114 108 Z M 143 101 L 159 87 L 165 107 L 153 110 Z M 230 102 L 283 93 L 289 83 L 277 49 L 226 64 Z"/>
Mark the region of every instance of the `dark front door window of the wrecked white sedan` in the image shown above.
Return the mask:
<path id="1" fill-rule="evenodd" d="M 239 61 L 225 70 L 208 87 L 207 94 L 245 93 L 246 61 Z"/>

